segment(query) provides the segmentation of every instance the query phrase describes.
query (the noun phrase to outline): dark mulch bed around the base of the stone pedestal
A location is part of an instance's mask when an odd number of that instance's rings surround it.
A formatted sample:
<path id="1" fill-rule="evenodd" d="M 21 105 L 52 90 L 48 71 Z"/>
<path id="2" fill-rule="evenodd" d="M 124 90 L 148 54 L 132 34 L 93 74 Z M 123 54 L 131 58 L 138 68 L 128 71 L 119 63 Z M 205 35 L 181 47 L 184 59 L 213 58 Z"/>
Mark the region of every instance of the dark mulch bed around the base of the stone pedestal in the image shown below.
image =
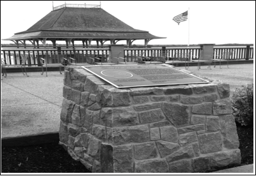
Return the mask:
<path id="1" fill-rule="evenodd" d="M 237 124 L 241 165 L 253 163 L 253 128 Z M 236 165 L 237 166 L 237 165 Z M 212 169 L 209 172 L 232 168 Z M 74 161 L 58 143 L 27 147 L 1 147 L 1 173 L 86 173 L 84 165 Z"/>

